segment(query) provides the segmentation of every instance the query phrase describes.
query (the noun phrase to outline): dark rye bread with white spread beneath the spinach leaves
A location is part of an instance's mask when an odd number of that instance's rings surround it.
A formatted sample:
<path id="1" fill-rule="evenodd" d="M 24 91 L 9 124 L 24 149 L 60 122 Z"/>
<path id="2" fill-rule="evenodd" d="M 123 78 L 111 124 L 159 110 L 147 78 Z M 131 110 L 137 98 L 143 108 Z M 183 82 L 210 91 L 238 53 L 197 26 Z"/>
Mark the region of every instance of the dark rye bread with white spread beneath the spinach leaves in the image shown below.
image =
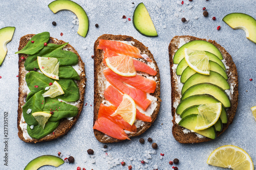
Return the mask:
<path id="1" fill-rule="evenodd" d="M 18 47 L 18 51 L 22 50 L 22 48 L 28 43 L 28 41 L 34 36 L 35 34 L 28 34 L 23 36 L 22 38 L 20 38 L 19 41 L 19 47 Z M 57 40 L 56 38 L 52 38 L 50 37 L 50 40 L 48 41 L 48 43 L 54 43 L 54 44 L 63 44 L 66 43 L 62 40 Z M 68 120 L 68 119 L 61 119 L 59 126 L 54 130 L 54 133 L 51 133 L 45 137 L 42 137 L 40 139 L 25 139 L 23 136 L 23 131 L 22 128 L 20 128 L 19 123 L 20 123 L 20 119 L 22 119 L 22 107 L 25 105 L 26 103 L 26 98 L 27 98 L 27 92 L 24 92 L 25 87 L 26 86 L 26 80 L 25 80 L 25 76 L 27 74 L 27 70 L 25 69 L 24 63 L 28 57 L 28 55 L 25 54 L 19 54 L 19 62 L 18 62 L 18 67 L 19 67 L 19 74 L 18 74 L 18 82 L 19 82 L 19 88 L 18 88 L 18 117 L 17 117 L 17 127 L 18 127 L 18 137 L 20 139 L 22 139 L 25 142 L 29 142 L 29 143 L 37 143 L 37 142 L 42 142 L 42 141 L 50 141 L 50 140 L 54 140 L 58 137 L 61 137 L 63 135 L 65 135 L 71 128 L 73 125 L 75 125 L 79 115 L 81 114 L 82 108 L 83 108 L 83 100 L 84 100 L 84 91 L 86 88 L 86 71 L 84 70 L 84 63 L 82 62 L 81 57 L 78 55 L 77 51 L 75 50 L 75 48 L 73 46 L 71 46 L 70 44 L 67 44 L 64 47 L 66 50 L 71 51 L 73 53 L 75 53 L 78 57 L 78 65 L 80 67 L 81 70 L 81 74 L 79 75 L 80 80 L 79 81 L 75 81 L 79 87 L 79 91 L 80 91 L 80 99 L 78 104 L 76 105 L 76 107 L 78 107 L 78 114 L 77 116 L 75 116 L 72 120 Z M 24 61 L 22 60 L 22 57 L 25 57 Z"/>

